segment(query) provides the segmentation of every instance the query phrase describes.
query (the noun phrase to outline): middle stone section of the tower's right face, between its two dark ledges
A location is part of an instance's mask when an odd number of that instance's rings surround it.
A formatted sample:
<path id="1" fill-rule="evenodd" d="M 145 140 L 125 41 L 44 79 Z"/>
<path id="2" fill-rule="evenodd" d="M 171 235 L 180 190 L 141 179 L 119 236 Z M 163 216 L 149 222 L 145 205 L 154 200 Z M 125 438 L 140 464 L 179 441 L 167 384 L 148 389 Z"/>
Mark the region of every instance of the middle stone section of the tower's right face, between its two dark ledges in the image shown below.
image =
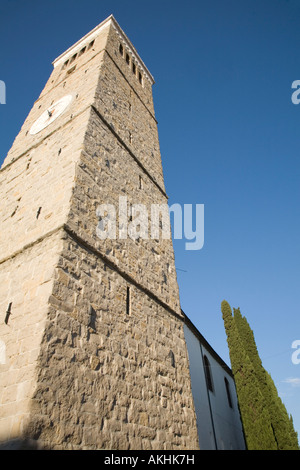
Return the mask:
<path id="1" fill-rule="evenodd" d="M 68 225 L 180 315 L 172 238 L 164 240 L 160 233 L 160 239 L 155 240 L 150 232 L 151 204 L 167 204 L 166 197 L 93 110 L 85 148 L 77 167 Z M 148 239 L 132 240 L 129 235 L 124 240 L 119 238 L 120 196 L 127 197 L 128 210 L 131 204 L 145 205 L 149 215 Z M 112 204 L 116 208 L 116 239 L 100 240 L 97 236 L 99 204 Z"/>

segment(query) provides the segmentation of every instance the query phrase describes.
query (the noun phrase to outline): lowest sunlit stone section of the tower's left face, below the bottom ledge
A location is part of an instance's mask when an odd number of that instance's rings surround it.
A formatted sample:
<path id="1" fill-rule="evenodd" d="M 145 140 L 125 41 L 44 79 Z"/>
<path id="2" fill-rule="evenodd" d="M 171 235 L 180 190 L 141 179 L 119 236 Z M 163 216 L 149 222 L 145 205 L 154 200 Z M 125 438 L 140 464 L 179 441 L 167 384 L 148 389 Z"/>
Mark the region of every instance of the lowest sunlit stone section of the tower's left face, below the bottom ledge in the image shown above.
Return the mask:
<path id="1" fill-rule="evenodd" d="M 26 427 L 59 248 L 57 232 L 0 264 L 0 442 Z"/>

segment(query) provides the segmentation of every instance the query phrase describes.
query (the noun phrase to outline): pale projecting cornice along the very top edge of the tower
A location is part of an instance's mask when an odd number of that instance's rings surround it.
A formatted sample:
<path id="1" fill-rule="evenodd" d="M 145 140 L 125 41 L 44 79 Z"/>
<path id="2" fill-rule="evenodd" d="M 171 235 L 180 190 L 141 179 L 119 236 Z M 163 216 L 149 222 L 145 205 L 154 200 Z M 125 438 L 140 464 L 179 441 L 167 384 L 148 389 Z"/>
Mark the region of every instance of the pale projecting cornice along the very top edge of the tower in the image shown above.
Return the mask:
<path id="1" fill-rule="evenodd" d="M 79 52 L 82 47 L 87 45 L 89 42 L 93 41 L 99 35 L 100 31 L 108 26 L 113 26 L 113 28 L 119 35 L 120 40 L 123 42 L 125 48 L 130 51 L 136 63 L 143 70 L 145 77 L 150 81 L 151 85 L 153 85 L 155 83 L 153 75 L 150 73 L 149 69 L 144 64 L 143 60 L 139 56 L 134 45 L 132 44 L 130 39 L 127 37 L 127 35 L 124 33 L 121 26 L 119 25 L 119 23 L 117 22 L 117 20 L 114 18 L 113 15 L 110 15 L 108 18 L 102 21 L 98 26 L 92 29 L 92 31 L 90 31 L 88 34 L 83 36 L 81 39 L 79 39 L 79 41 L 77 41 L 75 44 L 69 47 L 69 49 L 67 49 L 60 56 L 58 56 L 52 62 L 53 67 L 55 68 L 59 66 L 60 64 L 65 62 L 69 57 L 71 57 L 73 54 L 76 54 L 76 52 Z"/>

